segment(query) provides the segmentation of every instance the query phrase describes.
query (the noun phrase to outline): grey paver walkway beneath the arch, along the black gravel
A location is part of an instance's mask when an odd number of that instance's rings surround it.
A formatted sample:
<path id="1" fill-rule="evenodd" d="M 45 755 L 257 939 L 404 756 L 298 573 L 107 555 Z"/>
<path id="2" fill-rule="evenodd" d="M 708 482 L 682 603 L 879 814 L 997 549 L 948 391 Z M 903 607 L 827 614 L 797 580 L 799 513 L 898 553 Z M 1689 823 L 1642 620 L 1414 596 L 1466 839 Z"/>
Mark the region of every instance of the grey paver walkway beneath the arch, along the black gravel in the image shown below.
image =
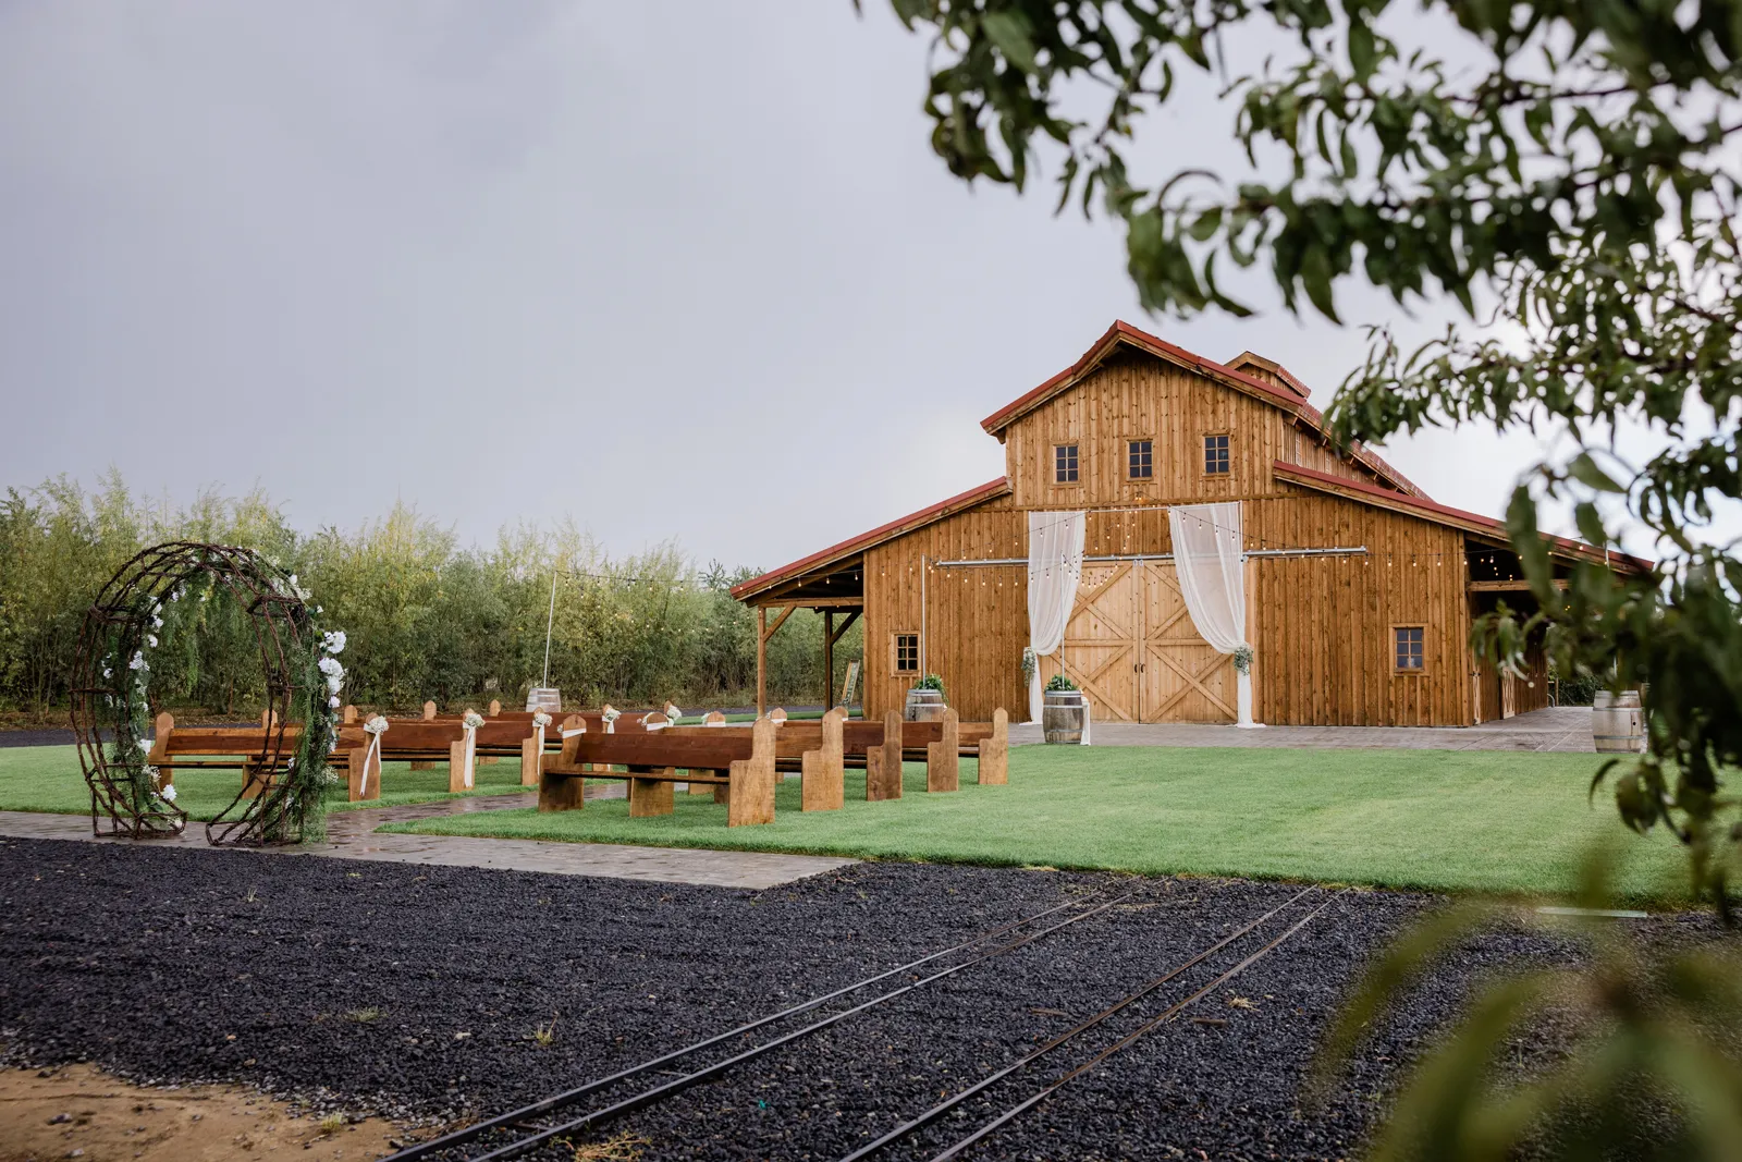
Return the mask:
<path id="1" fill-rule="evenodd" d="M 376 834 L 375 828 L 401 819 L 429 819 L 477 810 L 531 807 L 533 794 L 484 794 L 470 800 L 373 807 L 327 815 L 327 840 L 319 847 L 235 848 L 263 855 L 317 855 L 333 859 L 378 859 L 397 864 L 444 864 L 449 868 L 507 868 L 549 871 L 566 876 L 613 880 L 658 880 L 662 883 L 707 883 L 712 887 L 772 888 L 822 871 L 859 862 L 822 855 L 779 855 L 772 852 L 706 852 L 672 847 L 627 847 L 620 843 L 540 843 L 537 840 L 479 840 L 455 834 Z M 0 836 L 19 840 L 85 840 L 134 843 L 91 834 L 89 815 L 45 815 L 0 812 Z M 197 847 L 206 843 L 206 824 L 190 822 L 171 840 L 153 845 Z"/>

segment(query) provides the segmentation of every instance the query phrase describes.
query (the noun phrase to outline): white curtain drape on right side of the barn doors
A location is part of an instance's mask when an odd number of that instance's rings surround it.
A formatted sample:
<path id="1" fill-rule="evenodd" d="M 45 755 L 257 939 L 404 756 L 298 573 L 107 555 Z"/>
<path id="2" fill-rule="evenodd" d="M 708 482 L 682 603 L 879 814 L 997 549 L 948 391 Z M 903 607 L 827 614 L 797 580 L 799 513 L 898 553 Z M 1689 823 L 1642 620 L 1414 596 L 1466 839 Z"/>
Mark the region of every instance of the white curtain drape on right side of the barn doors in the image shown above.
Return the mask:
<path id="1" fill-rule="evenodd" d="M 1240 503 L 1174 505 L 1167 510 L 1174 538 L 1174 573 L 1192 613 L 1192 627 L 1218 653 L 1246 641 L 1246 530 Z M 1235 725 L 1252 721 L 1252 676 L 1235 671 Z"/>

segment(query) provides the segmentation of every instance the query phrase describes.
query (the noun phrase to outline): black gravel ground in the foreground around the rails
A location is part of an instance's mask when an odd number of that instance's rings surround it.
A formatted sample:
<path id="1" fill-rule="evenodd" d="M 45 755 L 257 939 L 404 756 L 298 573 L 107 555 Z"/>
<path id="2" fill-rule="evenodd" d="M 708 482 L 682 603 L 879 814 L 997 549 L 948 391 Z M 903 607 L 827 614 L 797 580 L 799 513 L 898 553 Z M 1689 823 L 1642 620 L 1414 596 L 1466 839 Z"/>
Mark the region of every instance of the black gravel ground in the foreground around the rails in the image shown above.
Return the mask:
<path id="1" fill-rule="evenodd" d="M 317 1111 L 446 1122 L 613 1073 L 1108 888 L 1132 899 L 578 1136 L 643 1138 L 648 1160 L 838 1159 L 1301 888 L 861 864 L 747 892 L 3 841 L 0 1042 L 16 1064 L 94 1061 L 148 1084 L 240 1080 Z M 1286 915 L 1320 902 L 1326 894 L 1313 890 Z M 1340 1159 L 1359 1150 L 1376 1096 L 1477 976 L 1575 955 L 1536 932 L 1474 941 L 1364 1049 L 1333 1101 L 1303 1111 L 1301 1078 L 1350 976 L 1428 904 L 1387 892 L 1331 897 L 1275 955 L 1186 1014 L 1214 1023 L 1162 1026 L 972 1157 Z M 1704 920 L 1653 925 L 1679 932 Z M 1284 927 L 1279 916 L 1263 937 L 1111 1019 L 1090 1035 L 1092 1047 Z M 540 1028 L 554 1031 L 550 1044 Z M 1521 1044 L 1519 1054 L 1552 1049 Z M 1059 1051 L 885 1157 L 930 1157 L 1085 1056 Z"/>

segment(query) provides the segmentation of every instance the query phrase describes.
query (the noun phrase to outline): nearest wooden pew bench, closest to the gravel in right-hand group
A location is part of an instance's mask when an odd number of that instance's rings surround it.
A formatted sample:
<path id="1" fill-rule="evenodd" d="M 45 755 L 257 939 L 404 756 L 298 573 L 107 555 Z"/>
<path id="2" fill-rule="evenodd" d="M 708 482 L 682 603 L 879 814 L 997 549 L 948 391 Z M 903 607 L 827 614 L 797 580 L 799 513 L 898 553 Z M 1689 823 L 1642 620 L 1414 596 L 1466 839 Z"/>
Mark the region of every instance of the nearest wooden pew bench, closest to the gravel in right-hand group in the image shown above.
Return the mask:
<path id="1" fill-rule="evenodd" d="M 773 822 L 779 728 L 770 719 L 730 732 L 697 726 L 699 737 L 678 730 L 564 732 L 563 749 L 540 772 L 538 810 L 580 810 L 587 779 L 624 779 L 636 819 L 669 815 L 676 784 L 688 782 L 725 791 L 728 828 Z"/>

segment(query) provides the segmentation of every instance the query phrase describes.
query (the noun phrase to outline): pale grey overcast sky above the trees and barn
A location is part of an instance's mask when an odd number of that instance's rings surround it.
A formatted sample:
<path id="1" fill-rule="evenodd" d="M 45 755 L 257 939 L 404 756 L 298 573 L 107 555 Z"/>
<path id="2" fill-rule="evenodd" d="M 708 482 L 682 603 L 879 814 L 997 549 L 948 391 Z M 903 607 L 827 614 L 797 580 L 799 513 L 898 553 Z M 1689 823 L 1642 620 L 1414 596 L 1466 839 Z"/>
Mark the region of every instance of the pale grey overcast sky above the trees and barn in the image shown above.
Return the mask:
<path id="1" fill-rule="evenodd" d="M 979 420 L 1118 317 L 1327 402 L 1359 326 L 1146 317 L 1115 226 L 944 171 L 925 42 L 866 9 L 0 3 L 0 488 L 773 566 L 1000 476 Z M 1209 92 L 1150 162 L 1228 157 Z M 1536 446 L 1387 455 L 1500 514 Z"/>

